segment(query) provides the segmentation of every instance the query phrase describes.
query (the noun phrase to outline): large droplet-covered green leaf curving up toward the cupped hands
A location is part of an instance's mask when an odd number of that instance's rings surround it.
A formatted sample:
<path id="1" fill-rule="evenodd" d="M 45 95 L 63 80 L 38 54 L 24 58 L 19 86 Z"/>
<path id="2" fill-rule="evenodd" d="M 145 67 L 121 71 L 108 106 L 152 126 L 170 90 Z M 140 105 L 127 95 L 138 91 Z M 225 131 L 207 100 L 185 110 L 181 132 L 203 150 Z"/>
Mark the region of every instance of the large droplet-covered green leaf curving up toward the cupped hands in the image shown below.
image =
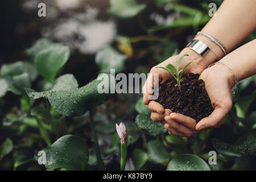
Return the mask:
<path id="1" fill-rule="evenodd" d="M 52 107 L 60 114 L 66 116 L 79 116 L 97 105 L 101 105 L 115 90 L 115 78 L 112 75 L 102 74 L 102 77 L 82 88 L 73 90 L 55 91 L 48 94 Z M 99 93 L 98 89 L 105 89 Z"/>

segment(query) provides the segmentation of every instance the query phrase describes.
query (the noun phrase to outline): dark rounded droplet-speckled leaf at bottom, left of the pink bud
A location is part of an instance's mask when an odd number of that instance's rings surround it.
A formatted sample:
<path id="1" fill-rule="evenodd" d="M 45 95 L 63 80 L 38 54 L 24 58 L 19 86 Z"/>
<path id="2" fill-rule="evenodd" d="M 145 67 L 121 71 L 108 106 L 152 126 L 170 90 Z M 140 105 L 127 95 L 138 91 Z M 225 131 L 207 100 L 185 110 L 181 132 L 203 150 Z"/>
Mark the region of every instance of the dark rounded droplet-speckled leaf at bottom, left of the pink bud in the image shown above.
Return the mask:
<path id="1" fill-rule="evenodd" d="M 84 170 L 89 159 L 87 144 L 75 135 L 64 135 L 43 151 L 47 169 Z"/>

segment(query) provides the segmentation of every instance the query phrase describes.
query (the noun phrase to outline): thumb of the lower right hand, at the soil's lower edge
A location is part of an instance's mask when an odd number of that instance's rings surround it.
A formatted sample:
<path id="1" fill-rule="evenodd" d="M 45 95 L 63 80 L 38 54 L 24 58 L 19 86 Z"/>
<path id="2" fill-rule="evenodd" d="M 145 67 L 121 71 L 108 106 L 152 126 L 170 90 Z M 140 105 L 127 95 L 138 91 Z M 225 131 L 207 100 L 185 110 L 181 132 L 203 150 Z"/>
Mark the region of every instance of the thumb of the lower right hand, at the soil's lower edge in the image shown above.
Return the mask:
<path id="1" fill-rule="evenodd" d="M 228 109 L 222 109 L 221 107 L 218 107 L 214 109 L 212 114 L 210 114 L 208 117 L 201 119 L 196 125 L 196 130 L 205 130 L 205 129 L 214 129 L 217 127 L 220 127 L 223 123 L 223 120 L 228 114 Z"/>

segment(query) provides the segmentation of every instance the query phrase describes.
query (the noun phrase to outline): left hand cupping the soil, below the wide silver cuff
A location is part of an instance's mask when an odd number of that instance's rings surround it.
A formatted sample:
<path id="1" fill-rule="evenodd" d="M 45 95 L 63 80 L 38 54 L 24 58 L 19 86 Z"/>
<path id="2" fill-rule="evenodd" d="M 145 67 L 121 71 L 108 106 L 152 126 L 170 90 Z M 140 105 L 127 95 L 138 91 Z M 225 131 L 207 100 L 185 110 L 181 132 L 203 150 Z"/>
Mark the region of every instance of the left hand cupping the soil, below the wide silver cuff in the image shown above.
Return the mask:
<path id="1" fill-rule="evenodd" d="M 166 67 L 167 64 L 172 64 L 176 67 L 177 61 L 179 61 L 180 57 L 188 54 L 189 56 L 185 56 L 180 64 L 180 69 L 182 69 L 185 65 L 192 61 L 192 63 L 185 69 L 183 74 L 187 73 L 201 73 L 204 69 L 207 68 L 207 62 L 204 61 L 203 57 L 197 54 L 195 51 L 190 48 L 184 48 L 183 51 L 180 52 L 179 55 L 172 56 L 162 63 L 153 67 L 150 71 L 151 76 L 148 76 L 147 81 L 143 86 L 143 102 L 145 105 L 148 105 L 148 109 L 151 111 L 151 119 L 152 121 L 164 121 L 164 116 L 171 114 L 170 109 L 164 109 L 162 105 L 158 102 L 150 101 L 149 97 L 153 94 L 152 90 L 154 89 L 154 74 L 158 73 L 157 80 L 159 84 L 164 84 L 166 82 L 171 82 L 174 80 L 174 77 L 171 76 L 167 71 L 156 68 L 156 67 Z M 209 61 L 208 61 L 209 62 Z"/>

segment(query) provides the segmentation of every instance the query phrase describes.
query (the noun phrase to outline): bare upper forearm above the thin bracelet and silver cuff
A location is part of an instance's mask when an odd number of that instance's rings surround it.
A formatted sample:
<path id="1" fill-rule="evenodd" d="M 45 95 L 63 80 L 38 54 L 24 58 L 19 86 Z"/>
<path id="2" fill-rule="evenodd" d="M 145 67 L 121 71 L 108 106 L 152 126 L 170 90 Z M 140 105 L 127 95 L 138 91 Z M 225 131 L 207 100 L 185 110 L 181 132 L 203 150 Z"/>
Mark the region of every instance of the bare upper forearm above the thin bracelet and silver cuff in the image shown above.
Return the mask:
<path id="1" fill-rule="evenodd" d="M 231 51 L 256 28 L 256 1 L 225 0 L 202 32 L 212 35 Z"/>

